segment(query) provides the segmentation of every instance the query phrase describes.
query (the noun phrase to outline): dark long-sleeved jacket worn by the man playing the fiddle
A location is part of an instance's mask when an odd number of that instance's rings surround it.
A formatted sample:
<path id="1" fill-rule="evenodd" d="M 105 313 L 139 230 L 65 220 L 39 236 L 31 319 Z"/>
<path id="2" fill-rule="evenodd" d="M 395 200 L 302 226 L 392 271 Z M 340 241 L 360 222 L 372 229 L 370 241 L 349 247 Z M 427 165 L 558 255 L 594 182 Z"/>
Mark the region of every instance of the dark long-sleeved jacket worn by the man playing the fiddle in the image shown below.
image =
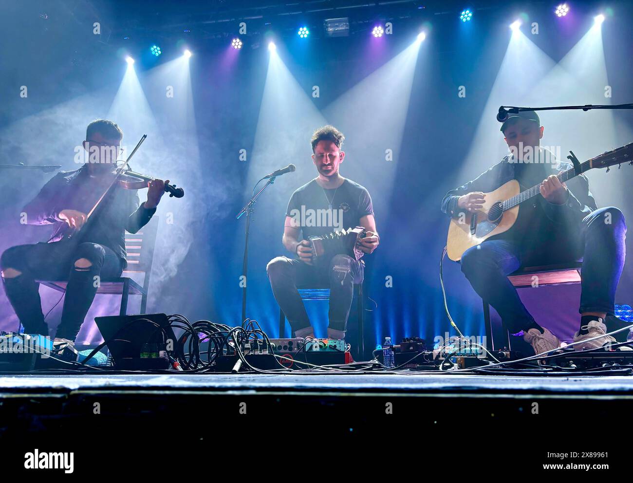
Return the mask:
<path id="1" fill-rule="evenodd" d="M 75 171 L 59 172 L 23 208 L 29 225 L 54 225 L 50 242 L 65 239 L 73 232 L 68 223 L 59 218 L 61 210 L 77 210 L 89 213 L 103 191 L 92 189 L 87 166 Z M 140 206 L 139 206 L 140 205 Z M 120 256 L 127 265 L 125 230 L 139 231 L 156 212 L 147 210 L 139 200 L 136 190 L 112 187 L 99 204 L 99 208 L 73 239 L 107 246 Z"/>

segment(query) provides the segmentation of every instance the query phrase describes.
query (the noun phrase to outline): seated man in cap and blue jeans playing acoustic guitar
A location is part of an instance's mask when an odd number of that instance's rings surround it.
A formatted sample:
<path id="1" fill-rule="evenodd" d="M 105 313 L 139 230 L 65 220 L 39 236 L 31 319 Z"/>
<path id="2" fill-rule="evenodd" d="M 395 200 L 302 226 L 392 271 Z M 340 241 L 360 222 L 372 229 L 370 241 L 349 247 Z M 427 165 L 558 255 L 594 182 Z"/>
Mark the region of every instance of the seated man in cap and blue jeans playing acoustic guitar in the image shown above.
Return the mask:
<path id="1" fill-rule="evenodd" d="M 615 289 L 624 267 L 626 225 L 618 208 L 600 208 L 584 175 L 561 183 L 556 175 L 572 168 L 540 146 L 544 128 L 534 111 L 511 115 L 501 126 L 511 154 L 467 184 L 449 191 L 442 211 L 449 216 L 475 213 L 485 192 L 510 180 L 521 190 L 541 184 L 541 196 L 520 205 L 515 224 L 461 257 L 461 271 L 475 292 L 501 316 L 506 328 L 532 345 L 535 353 L 558 348 L 560 341 L 527 311 L 507 275 L 519 267 L 583 260 L 577 350 L 615 342 L 603 322 L 613 314 Z M 592 337 L 595 341 L 582 343 Z M 621 348 L 629 349 L 629 348 Z"/>

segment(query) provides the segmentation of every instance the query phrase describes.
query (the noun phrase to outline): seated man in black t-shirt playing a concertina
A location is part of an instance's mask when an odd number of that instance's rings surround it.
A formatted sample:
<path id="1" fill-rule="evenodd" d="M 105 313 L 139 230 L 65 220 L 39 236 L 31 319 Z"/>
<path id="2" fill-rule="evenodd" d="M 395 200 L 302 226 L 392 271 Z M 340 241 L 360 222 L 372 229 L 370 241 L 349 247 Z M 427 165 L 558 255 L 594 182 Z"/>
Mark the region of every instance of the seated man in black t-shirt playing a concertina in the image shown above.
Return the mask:
<path id="1" fill-rule="evenodd" d="M 345 158 L 341 149 L 344 139 L 332 126 L 322 127 L 313 134 L 312 161 L 318 176 L 292 193 L 285 213 L 282 242 L 296 258 L 278 256 L 266 266 L 275 299 L 296 337 L 314 337 L 298 285 L 330 287 L 327 337 L 344 339 L 354 284 L 363 281 L 363 261 L 346 254 L 335 254 L 329 263 L 315 265 L 308 237 L 360 226 L 367 230 L 367 236 L 360 241 L 362 251 L 372 253 L 380 242 L 369 192 L 339 173 Z M 313 223 L 310 215 L 303 216 L 305 213 L 323 213 L 325 220 L 332 223 Z"/>

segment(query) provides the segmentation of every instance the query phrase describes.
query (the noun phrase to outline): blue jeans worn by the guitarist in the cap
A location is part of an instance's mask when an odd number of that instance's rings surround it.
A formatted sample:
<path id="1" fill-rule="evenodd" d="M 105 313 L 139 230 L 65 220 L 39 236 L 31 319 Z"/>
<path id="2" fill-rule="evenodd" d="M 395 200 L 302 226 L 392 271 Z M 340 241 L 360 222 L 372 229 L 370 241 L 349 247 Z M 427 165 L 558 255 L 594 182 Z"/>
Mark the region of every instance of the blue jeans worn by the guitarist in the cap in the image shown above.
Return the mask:
<path id="1" fill-rule="evenodd" d="M 544 265 L 543 261 L 582 260 L 579 312 L 612 315 L 615 289 L 624 267 L 626 232 L 622 211 L 613 207 L 601 208 L 585 216 L 578 236 L 570 237 L 565 244 L 544 240 L 542 246 L 530 247 L 532 254 L 526 256 L 525 248 L 515 242 L 489 239 L 465 251 L 461 257 L 461 271 L 475 292 L 499 313 L 511 334 L 527 330 L 526 327 L 534 324 L 534 318 L 523 305 L 508 275 L 520 267 L 539 265 L 539 261 Z"/>

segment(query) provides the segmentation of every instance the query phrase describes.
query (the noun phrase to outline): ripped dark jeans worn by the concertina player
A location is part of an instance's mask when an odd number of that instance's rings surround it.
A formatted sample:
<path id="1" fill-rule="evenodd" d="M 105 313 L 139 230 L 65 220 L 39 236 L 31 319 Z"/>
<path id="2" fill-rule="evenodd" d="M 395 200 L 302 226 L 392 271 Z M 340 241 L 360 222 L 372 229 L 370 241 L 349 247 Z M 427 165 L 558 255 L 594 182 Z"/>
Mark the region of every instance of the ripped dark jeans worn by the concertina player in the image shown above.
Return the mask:
<path id="1" fill-rule="evenodd" d="M 275 299 L 292 331 L 310 327 L 297 287 L 330 288 L 329 328 L 345 330 L 354 297 L 354 284 L 363 282 L 364 265 L 348 255 L 335 255 L 330 263 L 312 267 L 303 261 L 278 256 L 266 266 Z"/>

